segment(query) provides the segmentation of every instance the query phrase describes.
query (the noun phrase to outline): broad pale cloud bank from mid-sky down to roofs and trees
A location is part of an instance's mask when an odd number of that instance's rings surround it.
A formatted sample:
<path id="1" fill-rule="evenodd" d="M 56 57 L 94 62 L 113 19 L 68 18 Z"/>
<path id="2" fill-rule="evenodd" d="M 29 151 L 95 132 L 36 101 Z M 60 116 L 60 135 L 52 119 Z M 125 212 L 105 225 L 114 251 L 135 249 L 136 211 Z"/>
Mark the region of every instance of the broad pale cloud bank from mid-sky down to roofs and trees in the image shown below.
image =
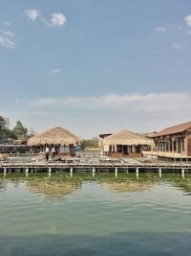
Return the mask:
<path id="1" fill-rule="evenodd" d="M 188 122 L 190 102 L 191 93 L 186 92 L 112 94 L 19 99 L 8 102 L 6 107 L 0 102 L 0 111 L 9 116 L 12 124 L 23 120 L 35 131 L 63 126 L 84 138 L 91 138 L 101 132 L 121 129 L 144 132 Z"/>

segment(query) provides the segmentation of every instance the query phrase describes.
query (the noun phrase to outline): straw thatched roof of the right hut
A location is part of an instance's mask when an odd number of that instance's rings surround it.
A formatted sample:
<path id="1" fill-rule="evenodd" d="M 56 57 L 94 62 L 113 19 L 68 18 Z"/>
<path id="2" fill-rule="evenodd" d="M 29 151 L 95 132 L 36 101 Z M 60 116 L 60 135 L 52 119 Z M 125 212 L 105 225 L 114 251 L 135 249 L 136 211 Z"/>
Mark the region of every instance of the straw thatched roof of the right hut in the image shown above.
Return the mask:
<path id="1" fill-rule="evenodd" d="M 138 133 L 134 133 L 129 130 L 122 130 L 103 139 L 102 144 L 138 146 L 151 145 L 152 141 Z"/>

